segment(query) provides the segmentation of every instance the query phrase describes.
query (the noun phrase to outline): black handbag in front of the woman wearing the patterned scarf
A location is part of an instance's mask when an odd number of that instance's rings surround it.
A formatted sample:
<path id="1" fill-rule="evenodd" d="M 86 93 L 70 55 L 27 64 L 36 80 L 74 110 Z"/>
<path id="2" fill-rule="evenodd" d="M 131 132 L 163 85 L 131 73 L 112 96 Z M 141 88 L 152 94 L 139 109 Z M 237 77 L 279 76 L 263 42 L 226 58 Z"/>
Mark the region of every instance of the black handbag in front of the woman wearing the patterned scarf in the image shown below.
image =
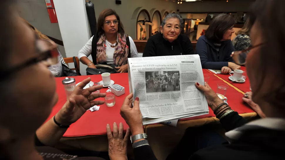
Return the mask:
<path id="1" fill-rule="evenodd" d="M 86 74 L 87 75 L 96 75 L 96 74 L 102 74 L 102 73 L 117 73 L 118 69 L 115 64 L 97 64 L 95 65 L 97 69 L 95 68 L 86 68 Z"/>

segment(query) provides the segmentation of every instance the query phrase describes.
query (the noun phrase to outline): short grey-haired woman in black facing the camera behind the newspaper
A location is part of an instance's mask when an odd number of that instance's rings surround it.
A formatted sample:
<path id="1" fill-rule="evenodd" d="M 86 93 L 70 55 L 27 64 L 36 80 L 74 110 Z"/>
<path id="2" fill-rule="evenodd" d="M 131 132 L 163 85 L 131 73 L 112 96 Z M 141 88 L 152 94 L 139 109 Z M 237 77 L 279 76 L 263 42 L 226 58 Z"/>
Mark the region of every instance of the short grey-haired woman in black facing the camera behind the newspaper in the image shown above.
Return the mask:
<path id="1" fill-rule="evenodd" d="M 193 55 L 194 50 L 190 39 L 180 34 L 183 19 L 176 13 L 170 13 L 163 19 L 160 33 L 147 40 L 143 57 Z"/>

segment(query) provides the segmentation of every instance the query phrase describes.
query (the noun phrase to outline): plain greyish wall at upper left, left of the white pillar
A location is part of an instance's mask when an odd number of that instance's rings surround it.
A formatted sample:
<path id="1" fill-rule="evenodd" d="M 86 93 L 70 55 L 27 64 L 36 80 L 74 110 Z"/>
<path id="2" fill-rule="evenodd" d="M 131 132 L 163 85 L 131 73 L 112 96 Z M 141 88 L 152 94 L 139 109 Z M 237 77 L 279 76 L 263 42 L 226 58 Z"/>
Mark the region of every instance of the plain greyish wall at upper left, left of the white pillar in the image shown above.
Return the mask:
<path id="1" fill-rule="evenodd" d="M 62 40 L 58 23 L 51 23 L 44 0 L 17 0 L 19 15 L 36 27 L 44 35 Z M 66 53 L 63 46 L 58 46 L 63 57 Z"/>

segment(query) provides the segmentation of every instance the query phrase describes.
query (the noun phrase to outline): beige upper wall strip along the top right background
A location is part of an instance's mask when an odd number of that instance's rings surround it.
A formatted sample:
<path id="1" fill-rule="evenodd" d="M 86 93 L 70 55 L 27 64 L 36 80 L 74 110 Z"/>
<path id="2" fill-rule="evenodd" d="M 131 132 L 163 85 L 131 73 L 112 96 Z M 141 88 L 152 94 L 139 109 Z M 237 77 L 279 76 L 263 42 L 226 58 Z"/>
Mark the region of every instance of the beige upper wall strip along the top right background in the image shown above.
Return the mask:
<path id="1" fill-rule="evenodd" d="M 254 0 L 183 2 L 179 12 L 247 12 Z"/>

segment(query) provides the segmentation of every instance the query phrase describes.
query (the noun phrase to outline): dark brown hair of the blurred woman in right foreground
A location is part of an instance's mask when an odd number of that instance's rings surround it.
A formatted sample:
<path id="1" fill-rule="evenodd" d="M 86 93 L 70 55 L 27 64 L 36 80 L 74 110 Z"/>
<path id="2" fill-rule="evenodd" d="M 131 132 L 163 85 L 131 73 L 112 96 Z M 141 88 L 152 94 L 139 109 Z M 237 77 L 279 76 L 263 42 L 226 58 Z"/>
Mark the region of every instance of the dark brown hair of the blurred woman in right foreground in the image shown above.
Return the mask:
<path id="1" fill-rule="evenodd" d="M 253 73 L 257 79 L 254 94 L 260 94 L 264 101 L 276 106 L 274 109 L 283 114 L 283 117 L 285 114 L 284 6 L 285 1 L 280 0 L 256 0 L 252 6 L 259 34 L 266 43 L 260 48 L 259 60 Z M 261 90 L 265 87 L 267 87 L 266 93 L 262 93 Z"/>

